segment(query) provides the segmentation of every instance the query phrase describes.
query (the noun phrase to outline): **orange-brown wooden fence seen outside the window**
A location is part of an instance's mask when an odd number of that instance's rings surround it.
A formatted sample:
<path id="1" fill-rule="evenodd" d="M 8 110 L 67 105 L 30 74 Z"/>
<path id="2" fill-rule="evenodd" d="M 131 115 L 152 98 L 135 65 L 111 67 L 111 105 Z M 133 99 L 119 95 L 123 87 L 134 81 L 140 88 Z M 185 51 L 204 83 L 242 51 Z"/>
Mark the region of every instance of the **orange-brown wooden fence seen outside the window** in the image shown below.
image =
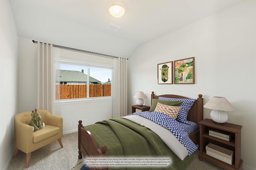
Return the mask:
<path id="1" fill-rule="evenodd" d="M 90 84 L 89 89 L 90 98 L 111 96 L 111 84 Z M 56 99 L 77 98 L 87 98 L 87 84 L 56 84 Z"/>

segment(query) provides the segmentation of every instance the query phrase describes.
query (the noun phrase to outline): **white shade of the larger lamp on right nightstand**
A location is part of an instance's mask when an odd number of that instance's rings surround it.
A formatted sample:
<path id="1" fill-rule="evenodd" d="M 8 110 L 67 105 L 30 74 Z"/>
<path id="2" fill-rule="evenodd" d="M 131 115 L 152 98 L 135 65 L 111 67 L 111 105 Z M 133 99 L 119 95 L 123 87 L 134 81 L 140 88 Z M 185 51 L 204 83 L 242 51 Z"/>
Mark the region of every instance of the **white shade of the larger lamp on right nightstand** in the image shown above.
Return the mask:
<path id="1" fill-rule="evenodd" d="M 222 111 L 234 111 L 234 107 L 226 98 L 223 97 L 213 97 L 204 105 L 205 108 L 212 110 L 222 110 Z"/>

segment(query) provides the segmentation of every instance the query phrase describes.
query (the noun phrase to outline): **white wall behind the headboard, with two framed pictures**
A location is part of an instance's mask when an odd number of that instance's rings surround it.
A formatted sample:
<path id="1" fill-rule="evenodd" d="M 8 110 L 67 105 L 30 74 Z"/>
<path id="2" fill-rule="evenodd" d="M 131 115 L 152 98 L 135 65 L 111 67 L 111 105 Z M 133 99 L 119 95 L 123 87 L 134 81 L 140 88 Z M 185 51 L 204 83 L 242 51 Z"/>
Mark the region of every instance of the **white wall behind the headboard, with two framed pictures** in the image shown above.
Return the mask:
<path id="1" fill-rule="evenodd" d="M 256 169 L 256 23 L 255 1 L 231 8 L 168 33 L 140 46 L 128 60 L 128 112 L 133 96 L 178 94 L 204 104 L 213 96 L 226 97 L 236 108 L 228 122 L 242 125 L 242 159 L 246 170 Z M 157 64 L 195 57 L 195 84 L 157 84 Z M 210 109 L 204 109 L 210 118 Z"/>

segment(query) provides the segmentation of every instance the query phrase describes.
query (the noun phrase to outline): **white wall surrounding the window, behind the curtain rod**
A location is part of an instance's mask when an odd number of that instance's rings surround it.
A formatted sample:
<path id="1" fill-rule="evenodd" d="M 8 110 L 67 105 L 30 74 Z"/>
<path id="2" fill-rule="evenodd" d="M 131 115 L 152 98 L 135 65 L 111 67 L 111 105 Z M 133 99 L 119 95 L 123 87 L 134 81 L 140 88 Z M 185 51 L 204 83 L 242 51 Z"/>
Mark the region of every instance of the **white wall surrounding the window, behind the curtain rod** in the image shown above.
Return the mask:
<path id="1" fill-rule="evenodd" d="M 110 64 L 106 57 L 95 56 L 94 59 L 86 57 L 84 53 L 61 50 L 60 57 L 73 57 L 73 59 L 84 58 L 100 63 Z M 18 111 L 29 111 L 36 108 L 36 62 L 37 44 L 32 39 L 19 38 L 19 100 Z M 40 109 L 40 108 L 37 108 Z M 89 125 L 97 121 L 112 118 L 112 98 L 101 101 L 70 102 L 60 104 L 60 116 L 63 117 L 63 133 L 72 133 L 78 130 L 78 121 L 83 125 Z M 68 127 L 69 123 L 72 127 Z"/>

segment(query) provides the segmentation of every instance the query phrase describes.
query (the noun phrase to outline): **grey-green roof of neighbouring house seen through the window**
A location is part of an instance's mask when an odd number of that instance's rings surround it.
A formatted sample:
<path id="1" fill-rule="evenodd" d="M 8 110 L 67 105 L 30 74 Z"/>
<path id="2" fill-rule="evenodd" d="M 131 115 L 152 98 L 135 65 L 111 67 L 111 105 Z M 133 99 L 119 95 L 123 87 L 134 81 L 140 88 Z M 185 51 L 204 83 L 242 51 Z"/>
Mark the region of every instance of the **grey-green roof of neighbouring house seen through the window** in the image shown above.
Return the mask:
<path id="1" fill-rule="evenodd" d="M 87 82 L 87 74 L 80 71 L 60 70 L 60 82 Z M 90 76 L 89 82 L 101 82 Z"/>

